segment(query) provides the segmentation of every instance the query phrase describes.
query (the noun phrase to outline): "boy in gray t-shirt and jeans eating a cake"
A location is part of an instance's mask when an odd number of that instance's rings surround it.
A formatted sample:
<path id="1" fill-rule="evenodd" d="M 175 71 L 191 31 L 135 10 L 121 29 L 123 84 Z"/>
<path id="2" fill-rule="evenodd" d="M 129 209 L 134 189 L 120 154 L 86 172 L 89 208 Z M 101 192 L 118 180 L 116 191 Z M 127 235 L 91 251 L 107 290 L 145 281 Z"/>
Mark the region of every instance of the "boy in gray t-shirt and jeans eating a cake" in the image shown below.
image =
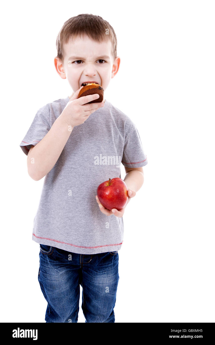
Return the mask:
<path id="1" fill-rule="evenodd" d="M 100 103 L 88 103 L 97 94 L 78 99 L 82 83 L 97 82 L 105 91 L 118 72 L 110 24 L 79 14 L 64 23 L 56 46 L 56 71 L 74 92 L 40 108 L 20 144 L 30 177 L 45 176 L 32 234 L 40 244 L 45 320 L 77 322 L 81 285 L 85 322 L 115 322 L 125 207 L 107 210 L 96 190 L 121 178 L 122 162 L 129 202 L 143 185 L 147 157 L 135 124 L 105 96 Z"/>

